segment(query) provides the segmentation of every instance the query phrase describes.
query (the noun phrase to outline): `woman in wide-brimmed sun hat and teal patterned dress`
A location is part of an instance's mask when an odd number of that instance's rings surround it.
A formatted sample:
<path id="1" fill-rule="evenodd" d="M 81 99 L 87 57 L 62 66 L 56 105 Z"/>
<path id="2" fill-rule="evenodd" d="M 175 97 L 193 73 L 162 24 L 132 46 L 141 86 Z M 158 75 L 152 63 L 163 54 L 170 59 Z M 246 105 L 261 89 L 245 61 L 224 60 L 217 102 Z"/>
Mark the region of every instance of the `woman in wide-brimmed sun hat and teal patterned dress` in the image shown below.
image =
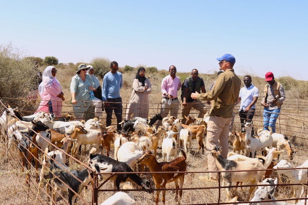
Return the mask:
<path id="1" fill-rule="evenodd" d="M 95 107 L 95 117 L 102 116 L 102 101 L 94 97 L 95 84 L 90 75 L 87 74 L 89 65 L 80 64 L 76 75 L 72 77 L 71 94 L 74 115 L 76 120 L 83 119 L 83 113 L 90 107 Z"/>

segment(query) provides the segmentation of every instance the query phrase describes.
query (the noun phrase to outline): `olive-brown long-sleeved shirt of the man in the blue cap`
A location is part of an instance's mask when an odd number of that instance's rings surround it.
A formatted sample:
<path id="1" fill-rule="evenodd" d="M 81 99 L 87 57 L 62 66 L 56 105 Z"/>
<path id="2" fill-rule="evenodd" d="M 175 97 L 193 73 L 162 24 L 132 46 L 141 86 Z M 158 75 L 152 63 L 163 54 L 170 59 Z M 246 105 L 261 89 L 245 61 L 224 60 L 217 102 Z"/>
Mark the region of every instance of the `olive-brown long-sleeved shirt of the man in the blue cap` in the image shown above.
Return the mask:
<path id="1" fill-rule="evenodd" d="M 213 89 L 207 93 L 198 94 L 197 99 L 202 101 L 213 100 L 210 115 L 229 118 L 232 117 L 240 89 L 240 78 L 237 77 L 233 69 L 227 69 L 217 77 Z"/>

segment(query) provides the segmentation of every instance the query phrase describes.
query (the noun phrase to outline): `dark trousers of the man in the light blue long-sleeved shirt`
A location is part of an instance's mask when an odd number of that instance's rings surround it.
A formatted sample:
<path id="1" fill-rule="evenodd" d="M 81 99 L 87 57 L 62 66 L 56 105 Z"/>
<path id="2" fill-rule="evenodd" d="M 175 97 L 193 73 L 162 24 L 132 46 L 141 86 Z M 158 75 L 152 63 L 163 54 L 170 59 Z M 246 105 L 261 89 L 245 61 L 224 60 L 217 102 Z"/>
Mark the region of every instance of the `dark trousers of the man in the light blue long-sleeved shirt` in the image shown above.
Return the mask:
<path id="1" fill-rule="evenodd" d="M 109 102 L 109 106 L 105 106 L 105 111 L 107 114 L 106 126 L 108 127 L 111 125 L 112 111 L 114 110 L 115 116 L 117 118 L 117 130 L 120 131 L 122 129 L 121 125 L 119 124 L 122 122 L 122 98 L 107 98 L 107 101 Z"/>

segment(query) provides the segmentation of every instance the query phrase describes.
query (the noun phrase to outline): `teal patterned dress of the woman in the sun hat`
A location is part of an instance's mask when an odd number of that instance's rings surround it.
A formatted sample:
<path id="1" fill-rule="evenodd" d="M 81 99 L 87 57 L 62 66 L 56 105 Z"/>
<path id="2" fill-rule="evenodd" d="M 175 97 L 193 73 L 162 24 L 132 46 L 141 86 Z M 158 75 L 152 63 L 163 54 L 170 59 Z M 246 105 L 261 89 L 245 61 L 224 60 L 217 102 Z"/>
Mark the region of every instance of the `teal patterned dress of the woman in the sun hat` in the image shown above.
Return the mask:
<path id="1" fill-rule="evenodd" d="M 91 101 L 89 86 L 94 86 L 90 75 L 86 74 L 86 80 L 84 82 L 78 74 L 72 77 L 70 89 L 71 93 L 76 93 L 75 99 L 77 101 L 77 104 L 73 104 L 75 116 L 83 114 L 92 104 L 92 102 L 85 102 Z"/>

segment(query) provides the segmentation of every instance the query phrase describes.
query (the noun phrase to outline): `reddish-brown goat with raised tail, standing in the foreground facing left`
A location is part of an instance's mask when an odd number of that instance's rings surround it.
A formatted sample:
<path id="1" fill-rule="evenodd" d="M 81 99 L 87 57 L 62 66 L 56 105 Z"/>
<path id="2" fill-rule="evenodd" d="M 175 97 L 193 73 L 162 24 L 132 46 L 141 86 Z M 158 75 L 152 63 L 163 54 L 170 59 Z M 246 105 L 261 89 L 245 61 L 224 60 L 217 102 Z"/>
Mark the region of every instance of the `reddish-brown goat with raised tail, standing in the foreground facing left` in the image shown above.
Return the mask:
<path id="1" fill-rule="evenodd" d="M 140 158 L 136 160 L 137 163 L 142 163 L 148 165 L 150 171 L 186 171 L 186 153 L 181 150 L 181 157 L 176 157 L 171 162 L 157 162 L 155 156 L 152 154 L 150 150 L 145 150 Z M 164 174 L 152 174 L 154 178 L 154 183 L 156 189 L 165 189 L 166 184 L 170 182 L 174 182 L 176 189 L 179 188 L 178 179 L 180 179 L 180 188 L 183 187 L 184 184 L 184 173 L 164 173 Z M 182 190 L 179 191 L 180 199 L 178 199 L 178 191 L 175 191 L 176 196 L 175 200 L 179 201 L 182 197 Z M 158 204 L 160 191 L 156 191 L 155 204 Z M 166 191 L 163 191 L 162 202 L 165 204 L 165 195 Z"/>

